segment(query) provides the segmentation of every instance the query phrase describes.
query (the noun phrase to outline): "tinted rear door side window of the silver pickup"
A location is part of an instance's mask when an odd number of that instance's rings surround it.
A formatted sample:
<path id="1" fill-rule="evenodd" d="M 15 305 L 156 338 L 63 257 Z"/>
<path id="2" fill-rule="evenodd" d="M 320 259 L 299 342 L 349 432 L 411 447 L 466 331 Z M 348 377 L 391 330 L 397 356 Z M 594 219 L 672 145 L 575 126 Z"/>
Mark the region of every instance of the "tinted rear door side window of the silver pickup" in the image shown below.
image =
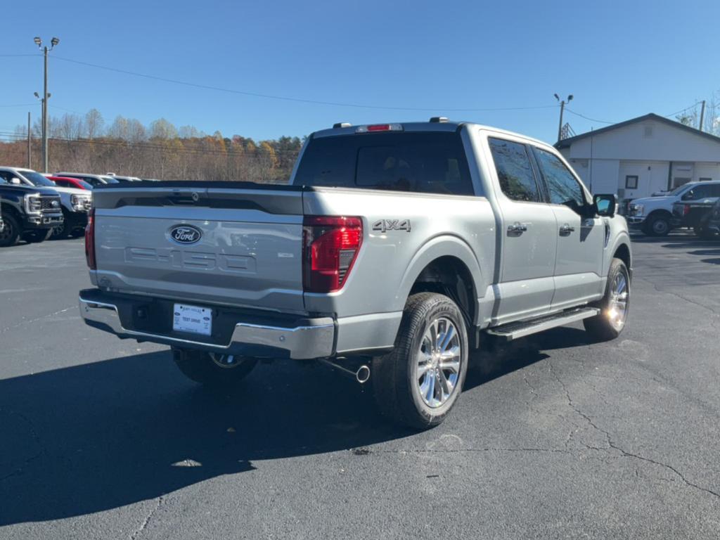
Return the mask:
<path id="1" fill-rule="evenodd" d="M 525 145 L 489 138 L 500 189 L 514 201 L 539 202 L 540 194 Z"/>

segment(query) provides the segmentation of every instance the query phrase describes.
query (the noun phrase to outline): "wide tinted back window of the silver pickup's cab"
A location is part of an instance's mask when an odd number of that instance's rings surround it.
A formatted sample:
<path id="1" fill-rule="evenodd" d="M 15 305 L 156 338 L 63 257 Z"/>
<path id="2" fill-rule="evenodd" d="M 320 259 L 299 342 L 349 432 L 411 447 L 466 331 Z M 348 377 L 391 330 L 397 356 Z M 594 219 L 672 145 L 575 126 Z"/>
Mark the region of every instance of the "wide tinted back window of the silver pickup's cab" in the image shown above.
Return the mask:
<path id="1" fill-rule="evenodd" d="M 294 184 L 474 193 L 462 140 L 455 132 L 368 133 L 312 139 L 302 155 Z"/>

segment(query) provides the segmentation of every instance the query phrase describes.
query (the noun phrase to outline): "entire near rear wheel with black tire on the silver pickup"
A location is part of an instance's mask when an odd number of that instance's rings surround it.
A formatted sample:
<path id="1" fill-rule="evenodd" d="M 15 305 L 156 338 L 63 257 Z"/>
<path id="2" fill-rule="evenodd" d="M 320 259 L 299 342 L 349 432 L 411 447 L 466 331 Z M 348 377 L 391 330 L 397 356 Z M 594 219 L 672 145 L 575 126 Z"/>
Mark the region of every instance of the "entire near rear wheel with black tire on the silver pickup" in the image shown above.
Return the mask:
<path id="1" fill-rule="evenodd" d="M 442 294 L 413 294 L 405 305 L 395 348 L 373 361 L 377 404 L 404 426 L 438 426 L 458 400 L 467 374 L 467 328 Z"/>

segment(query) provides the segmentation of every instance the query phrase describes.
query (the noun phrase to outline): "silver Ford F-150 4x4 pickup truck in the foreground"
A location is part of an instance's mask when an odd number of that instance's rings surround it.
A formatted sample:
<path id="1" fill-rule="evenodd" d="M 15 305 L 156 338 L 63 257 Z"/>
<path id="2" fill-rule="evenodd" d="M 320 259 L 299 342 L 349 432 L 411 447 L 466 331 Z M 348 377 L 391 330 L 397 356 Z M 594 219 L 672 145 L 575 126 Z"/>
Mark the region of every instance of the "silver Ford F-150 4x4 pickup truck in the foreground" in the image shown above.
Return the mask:
<path id="1" fill-rule="evenodd" d="M 427 428 L 490 336 L 621 333 L 631 249 L 615 210 L 538 140 L 444 118 L 340 124 L 310 135 L 287 186 L 97 188 L 80 310 L 171 346 L 202 384 L 258 359 L 323 361 Z"/>

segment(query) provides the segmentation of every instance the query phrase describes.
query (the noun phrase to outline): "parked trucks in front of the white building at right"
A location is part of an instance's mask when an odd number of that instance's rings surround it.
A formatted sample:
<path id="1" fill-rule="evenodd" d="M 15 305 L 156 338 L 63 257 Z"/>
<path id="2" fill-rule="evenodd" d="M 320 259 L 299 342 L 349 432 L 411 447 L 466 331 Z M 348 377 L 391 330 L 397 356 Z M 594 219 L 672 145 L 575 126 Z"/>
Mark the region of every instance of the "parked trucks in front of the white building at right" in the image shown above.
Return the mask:
<path id="1" fill-rule="evenodd" d="M 720 235 L 720 181 L 688 182 L 671 192 L 634 199 L 626 219 L 630 228 L 649 236 L 665 236 L 675 228 L 691 228 L 704 239 Z"/>

